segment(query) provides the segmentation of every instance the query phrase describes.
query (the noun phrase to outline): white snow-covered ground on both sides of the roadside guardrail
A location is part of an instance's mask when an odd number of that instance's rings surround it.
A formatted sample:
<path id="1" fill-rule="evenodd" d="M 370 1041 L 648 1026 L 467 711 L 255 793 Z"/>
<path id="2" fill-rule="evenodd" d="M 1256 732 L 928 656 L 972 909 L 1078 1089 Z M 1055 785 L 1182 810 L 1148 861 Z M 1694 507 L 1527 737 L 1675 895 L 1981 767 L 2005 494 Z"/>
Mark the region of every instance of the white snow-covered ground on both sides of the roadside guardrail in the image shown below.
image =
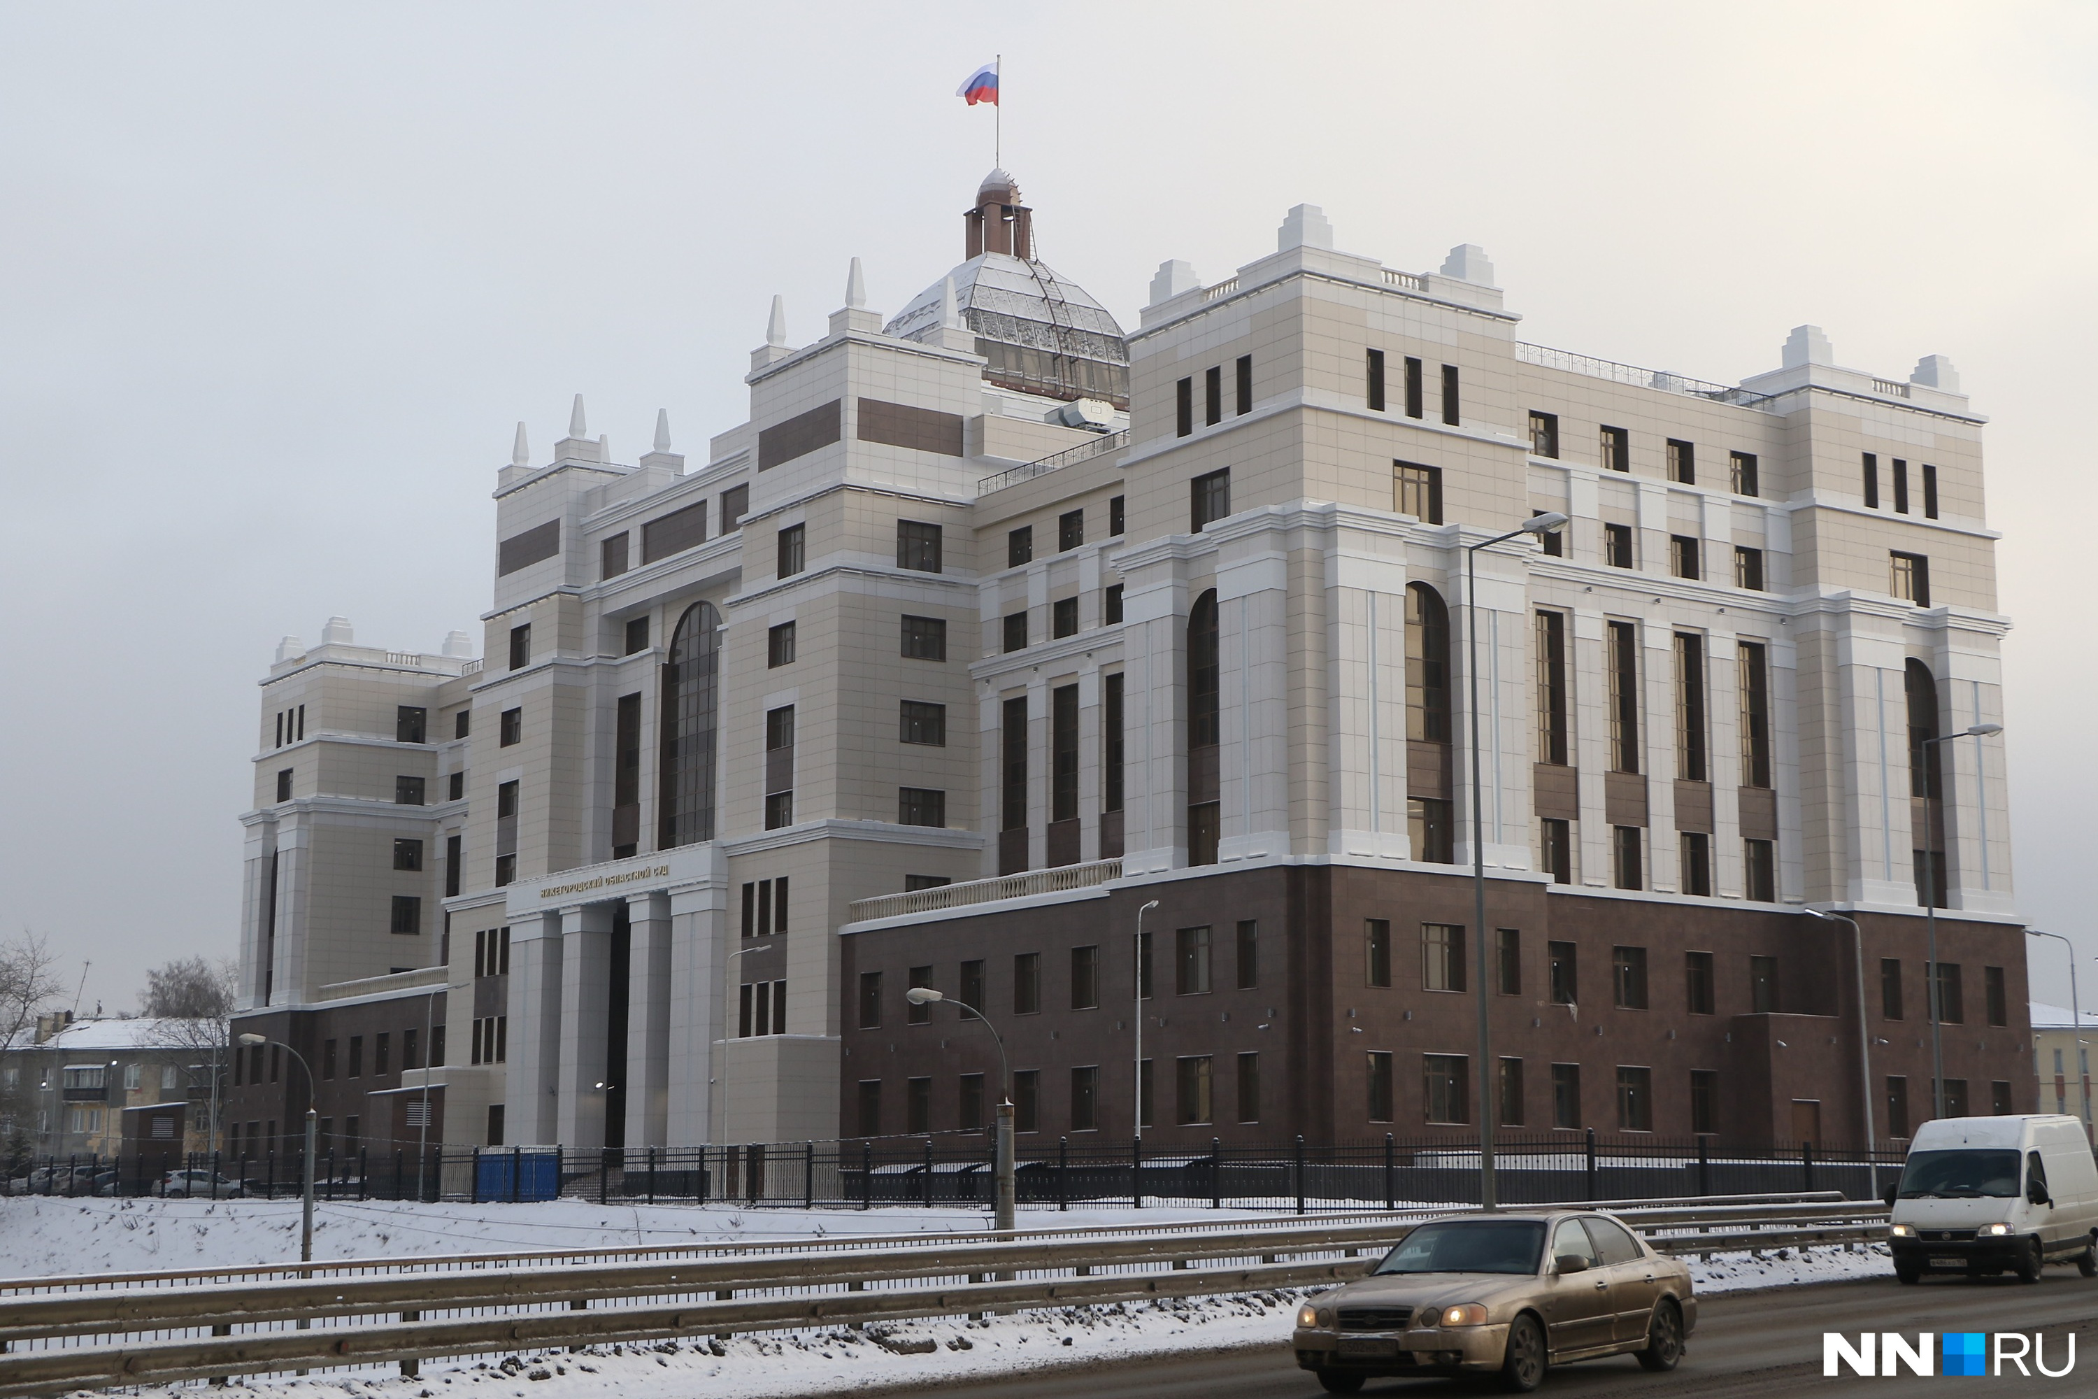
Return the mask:
<path id="1" fill-rule="evenodd" d="M 1022 1227 L 1246 1219 L 1240 1210 L 1028 1212 Z M 841 1233 L 948 1233 L 986 1227 L 952 1210 L 738 1210 L 724 1206 L 594 1206 L 390 1202 L 319 1206 L 315 1256 L 369 1258 L 476 1248 L 617 1248 L 678 1242 L 783 1242 Z M 0 1200 L 0 1271 L 50 1275 L 199 1265 L 275 1263 L 298 1252 L 298 1204 L 264 1200 Z M 1775 1250 L 1764 1258 L 1691 1258 L 1699 1292 L 1800 1286 L 1886 1275 L 1865 1252 Z M 988 1321 L 904 1321 L 852 1330 L 736 1336 L 524 1353 L 495 1361 L 424 1361 L 420 1380 L 384 1370 L 248 1380 L 269 1399 L 772 1399 L 917 1389 L 1043 1365 L 1112 1363 L 1173 1351 L 1276 1344 L 1294 1292 L 1028 1311 Z M 483 1389 L 483 1384 L 487 1389 Z M 545 1389 L 541 1389 L 545 1384 Z M 159 1391 L 147 1391 L 155 1395 Z M 172 1391 L 168 1391 L 172 1395 Z"/>

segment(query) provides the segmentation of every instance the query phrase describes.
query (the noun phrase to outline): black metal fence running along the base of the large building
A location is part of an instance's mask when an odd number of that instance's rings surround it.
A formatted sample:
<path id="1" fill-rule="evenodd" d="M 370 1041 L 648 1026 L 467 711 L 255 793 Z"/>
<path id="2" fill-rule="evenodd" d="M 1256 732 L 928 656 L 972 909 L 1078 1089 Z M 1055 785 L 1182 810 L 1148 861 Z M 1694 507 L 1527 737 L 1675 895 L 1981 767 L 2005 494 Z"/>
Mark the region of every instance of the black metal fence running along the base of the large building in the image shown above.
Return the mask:
<path id="1" fill-rule="evenodd" d="M 1670 1200 L 1691 1196 L 1836 1189 L 1871 1200 L 1901 1172 L 1903 1149 L 1871 1154 L 1802 1145 L 1716 1149 L 1708 1137 L 1668 1141 L 1550 1133 L 1494 1143 L 1502 1204 Z M 315 1158 L 321 1200 L 531 1202 L 587 1198 L 621 1204 L 799 1208 L 990 1208 L 994 1160 L 978 1133 L 720 1147 L 573 1149 L 432 1145 L 325 1152 Z M 1206 1149 L 1055 1141 L 1013 1164 L 1022 1208 L 1208 1206 L 1297 1212 L 1477 1204 L 1479 1149 L 1452 1141 L 1221 1145 Z M 294 1198 L 300 1154 L 227 1158 L 44 1158 L 8 1181 L 36 1196 Z"/>

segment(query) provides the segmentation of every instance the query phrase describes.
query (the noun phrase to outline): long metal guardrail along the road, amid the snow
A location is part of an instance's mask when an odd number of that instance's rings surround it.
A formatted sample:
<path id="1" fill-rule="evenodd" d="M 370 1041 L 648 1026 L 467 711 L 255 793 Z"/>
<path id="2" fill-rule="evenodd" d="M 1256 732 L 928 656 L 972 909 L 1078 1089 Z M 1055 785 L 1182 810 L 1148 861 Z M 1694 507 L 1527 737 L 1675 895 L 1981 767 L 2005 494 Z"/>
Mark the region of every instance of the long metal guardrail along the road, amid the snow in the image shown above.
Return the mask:
<path id="1" fill-rule="evenodd" d="M 413 1273 L 340 1273 L 376 1263 L 359 1261 L 292 1265 L 275 1282 L 212 1288 L 40 1279 L 52 1290 L 17 1292 L 0 1315 L 0 1342 L 8 1349 L 0 1355 L 0 1399 L 388 1361 L 413 1374 L 415 1361 L 441 1355 L 1301 1288 L 1362 1275 L 1372 1265 L 1366 1252 L 1378 1254 L 1412 1223 L 1448 1212 L 1416 1208 L 1318 1225 L 1292 1217 L 1229 1229 L 1053 1229 L 967 1242 L 917 1235 L 908 1246 L 881 1250 L 804 1240 L 741 1256 L 724 1256 L 724 1246 L 680 1246 L 652 1250 L 665 1256 L 640 1265 L 598 1265 L 590 1261 L 598 1250 L 579 1250 L 512 1254 L 537 1256 L 537 1267 L 438 1267 L 472 1258 L 459 1256 L 424 1261 Z M 1884 1214 L 1878 1204 L 1827 1198 L 1620 1202 L 1618 1208 L 1655 1250 L 1672 1254 L 1884 1237 Z M 583 1261 L 548 1267 L 550 1258 Z M 296 1277 L 308 1267 L 338 1271 Z M 738 1292 L 768 1296 L 738 1298 Z M 453 1315 L 424 1319 L 426 1313 Z M 296 1330 L 327 1319 L 334 1323 Z M 252 1330 L 233 1334 L 235 1328 Z M 82 1338 L 99 1344 L 78 1344 Z"/>

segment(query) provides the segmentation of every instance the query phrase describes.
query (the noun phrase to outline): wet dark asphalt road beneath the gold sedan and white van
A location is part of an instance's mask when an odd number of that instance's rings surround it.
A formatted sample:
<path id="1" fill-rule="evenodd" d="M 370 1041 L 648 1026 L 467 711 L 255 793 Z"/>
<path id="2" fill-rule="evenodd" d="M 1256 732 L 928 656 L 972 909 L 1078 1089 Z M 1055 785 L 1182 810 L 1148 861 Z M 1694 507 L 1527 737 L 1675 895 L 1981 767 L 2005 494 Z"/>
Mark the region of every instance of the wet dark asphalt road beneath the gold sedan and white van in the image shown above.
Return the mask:
<path id="1" fill-rule="evenodd" d="M 1288 1321 L 1278 1317 L 1282 1340 L 1269 1349 L 1234 1349 L 1211 1355 L 1175 1355 L 1120 1365 L 1074 1365 L 1024 1376 L 940 1386 L 940 1399 L 1311 1399 L 1322 1397 L 1286 1342 Z M 2077 1368 L 2048 1380 L 2037 1372 L 2018 1378 L 1823 1378 L 1821 1332 L 2041 1332 L 2048 1365 L 2060 1368 L 2075 1336 Z M 2098 1279 L 2075 1269 L 2050 1267 L 2037 1286 L 2016 1279 L 1926 1282 L 1903 1288 L 1884 1282 L 1779 1288 L 1773 1292 L 1718 1294 L 1699 1300 L 1697 1332 L 1674 1374 L 1647 1374 L 1628 1357 L 1553 1370 L 1540 1395 L 1584 1399 L 1748 1399 L 1750 1395 L 1928 1395 L 1955 1399 L 2020 1393 L 2090 1395 L 2098 1389 Z M 1456 1399 L 1479 1386 L 1456 1380 L 1370 1380 L 1364 1395 Z"/>

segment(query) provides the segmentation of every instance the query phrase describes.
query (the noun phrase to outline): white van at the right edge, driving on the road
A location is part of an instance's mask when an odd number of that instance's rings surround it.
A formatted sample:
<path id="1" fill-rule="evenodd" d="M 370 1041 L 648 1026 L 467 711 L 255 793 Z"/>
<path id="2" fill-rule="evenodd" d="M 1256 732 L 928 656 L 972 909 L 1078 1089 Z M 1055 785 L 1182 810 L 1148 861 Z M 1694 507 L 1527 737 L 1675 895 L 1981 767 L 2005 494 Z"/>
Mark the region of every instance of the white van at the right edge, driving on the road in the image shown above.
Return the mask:
<path id="1" fill-rule="evenodd" d="M 1894 1275 L 2098 1277 L 2098 1162 L 2075 1118 L 1936 1118 L 1915 1128 L 1892 1206 Z"/>

